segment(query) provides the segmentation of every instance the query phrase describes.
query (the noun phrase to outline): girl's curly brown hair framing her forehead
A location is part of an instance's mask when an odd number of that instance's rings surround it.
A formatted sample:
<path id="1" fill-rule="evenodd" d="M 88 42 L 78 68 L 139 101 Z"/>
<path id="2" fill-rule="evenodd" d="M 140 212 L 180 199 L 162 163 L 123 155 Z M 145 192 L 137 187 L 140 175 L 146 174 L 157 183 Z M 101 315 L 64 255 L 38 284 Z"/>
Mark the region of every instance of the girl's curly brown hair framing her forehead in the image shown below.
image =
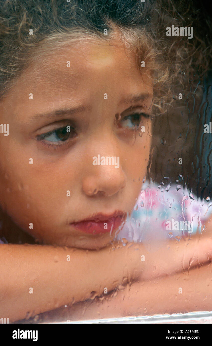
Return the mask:
<path id="1" fill-rule="evenodd" d="M 39 61 L 50 49 L 70 39 L 113 39 L 118 32 L 120 44 L 135 51 L 142 73 L 150 71 L 155 113 L 162 113 L 164 105 L 173 102 L 173 85 L 185 86 L 185 76 L 191 81 L 196 72 L 202 78 L 211 62 L 210 43 L 197 36 L 195 17 L 181 0 L 175 5 L 171 0 L 1 1 L 0 99 L 31 61 Z M 166 27 L 171 25 L 195 25 L 193 39 L 167 37 Z M 205 25 L 211 32 L 207 20 Z"/>

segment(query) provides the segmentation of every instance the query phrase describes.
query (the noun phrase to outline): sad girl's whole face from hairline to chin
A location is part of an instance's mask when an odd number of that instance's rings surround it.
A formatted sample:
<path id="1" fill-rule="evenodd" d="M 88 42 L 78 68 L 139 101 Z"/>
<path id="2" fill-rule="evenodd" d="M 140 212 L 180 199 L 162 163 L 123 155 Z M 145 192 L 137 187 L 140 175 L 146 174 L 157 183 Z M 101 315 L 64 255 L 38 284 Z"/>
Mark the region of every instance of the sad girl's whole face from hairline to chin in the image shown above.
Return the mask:
<path id="1" fill-rule="evenodd" d="M 146 174 L 153 88 L 135 55 L 114 43 L 72 43 L 47 62 L 32 64 L 0 102 L 9 124 L 0 133 L 0 203 L 40 242 L 101 248 Z"/>

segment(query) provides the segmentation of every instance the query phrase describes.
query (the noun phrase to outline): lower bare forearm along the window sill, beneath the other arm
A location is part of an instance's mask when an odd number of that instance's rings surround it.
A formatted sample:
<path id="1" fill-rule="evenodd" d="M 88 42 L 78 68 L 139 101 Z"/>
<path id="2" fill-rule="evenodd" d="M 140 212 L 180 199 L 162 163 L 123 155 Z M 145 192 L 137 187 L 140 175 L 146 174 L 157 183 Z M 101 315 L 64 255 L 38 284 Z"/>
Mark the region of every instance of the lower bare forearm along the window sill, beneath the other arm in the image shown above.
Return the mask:
<path id="1" fill-rule="evenodd" d="M 212 266 L 204 265 L 193 268 L 189 273 L 135 282 L 130 287 L 119 290 L 115 296 L 111 292 L 108 300 L 100 298 L 74 304 L 68 313 L 66 312 L 66 319 L 77 321 L 212 311 L 211 275 Z M 48 315 L 45 314 L 45 317 L 48 318 Z M 58 312 L 54 317 L 51 315 L 51 318 L 58 320 Z"/>

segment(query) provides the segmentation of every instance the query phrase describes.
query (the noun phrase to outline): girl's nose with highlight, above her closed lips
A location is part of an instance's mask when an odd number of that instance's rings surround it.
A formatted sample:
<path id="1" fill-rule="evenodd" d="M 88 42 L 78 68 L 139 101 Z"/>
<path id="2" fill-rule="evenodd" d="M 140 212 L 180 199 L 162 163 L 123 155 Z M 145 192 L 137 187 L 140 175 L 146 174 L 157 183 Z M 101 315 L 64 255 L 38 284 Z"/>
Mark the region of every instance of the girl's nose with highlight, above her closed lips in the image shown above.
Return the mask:
<path id="1" fill-rule="evenodd" d="M 107 148 L 108 153 L 109 150 Z M 113 154 L 115 154 L 114 151 Z M 125 187 L 127 178 L 122 169 L 120 156 L 115 158 L 114 156 L 104 156 L 103 153 L 101 155 L 97 153 L 96 156 L 89 156 L 91 157 L 89 168 L 87 167 L 87 174 L 85 174 L 82 181 L 83 192 L 87 196 L 110 197 Z M 110 160 L 109 157 L 114 157 L 114 161 Z M 119 167 L 118 165 L 115 166 L 118 160 Z M 114 164 L 110 164 L 113 162 Z"/>

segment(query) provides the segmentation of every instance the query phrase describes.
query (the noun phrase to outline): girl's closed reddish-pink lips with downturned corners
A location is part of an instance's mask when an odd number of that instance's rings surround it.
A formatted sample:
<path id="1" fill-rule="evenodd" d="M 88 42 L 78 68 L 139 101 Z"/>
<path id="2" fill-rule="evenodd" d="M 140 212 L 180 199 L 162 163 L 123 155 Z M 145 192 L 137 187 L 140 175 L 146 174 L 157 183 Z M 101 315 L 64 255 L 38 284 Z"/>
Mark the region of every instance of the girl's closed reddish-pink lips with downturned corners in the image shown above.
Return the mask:
<path id="1" fill-rule="evenodd" d="M 126 220 L 126 213 L 116 211 L 110 214 L 97 213 L 79 222 L 70 225 L 87 234 L 109 233 L 123 226 Z"/>

